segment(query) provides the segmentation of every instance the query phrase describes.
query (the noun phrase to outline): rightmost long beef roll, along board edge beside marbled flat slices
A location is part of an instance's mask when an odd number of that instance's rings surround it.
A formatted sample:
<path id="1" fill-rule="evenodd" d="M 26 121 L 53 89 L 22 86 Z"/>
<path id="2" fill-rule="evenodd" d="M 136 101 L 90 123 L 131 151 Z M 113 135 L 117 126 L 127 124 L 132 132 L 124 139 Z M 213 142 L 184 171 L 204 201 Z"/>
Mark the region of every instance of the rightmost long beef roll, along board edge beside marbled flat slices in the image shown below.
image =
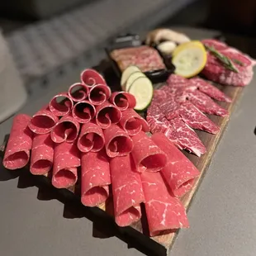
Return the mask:
<path id="1" fill-rule="evenodd" d="M 161 170 L 166 183 L 175 197 L 183 197 L 192 188 L 199 171 L 162 133 L 155 133 L 151 139 L 168 156 L 168 162 Z"/>

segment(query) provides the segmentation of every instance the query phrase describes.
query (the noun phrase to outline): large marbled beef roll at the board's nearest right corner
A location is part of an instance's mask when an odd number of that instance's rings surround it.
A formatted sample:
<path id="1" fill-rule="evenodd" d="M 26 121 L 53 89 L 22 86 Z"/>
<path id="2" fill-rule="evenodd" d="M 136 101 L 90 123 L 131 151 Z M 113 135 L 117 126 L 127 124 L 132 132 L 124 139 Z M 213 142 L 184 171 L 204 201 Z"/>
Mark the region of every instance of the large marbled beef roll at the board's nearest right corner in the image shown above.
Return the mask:
<path id="1" fill-rule="evenodd" d="M 149 235 L 159 235 L 164 230 L 187 228 L 189 224 L 185 207 L 177 197 L 168 192 L 161 173 L 141 173 L 141 180 Z"/>

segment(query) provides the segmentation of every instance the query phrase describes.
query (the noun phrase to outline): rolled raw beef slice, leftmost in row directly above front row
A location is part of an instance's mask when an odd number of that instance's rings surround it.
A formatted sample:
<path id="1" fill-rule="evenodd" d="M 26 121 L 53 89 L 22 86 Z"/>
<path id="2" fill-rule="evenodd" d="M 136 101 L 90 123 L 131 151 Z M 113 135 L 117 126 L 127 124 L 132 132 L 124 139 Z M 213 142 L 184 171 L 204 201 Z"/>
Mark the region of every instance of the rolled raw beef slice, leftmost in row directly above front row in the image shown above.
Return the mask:
<path id="1" fill-rule="evenodd" d="M 44 135 L 49 133 L 58 121 L 59 118 L 47 107 L 37 111 L 36 114 L 32 116 L 28 126 L 34 133 Z"/>

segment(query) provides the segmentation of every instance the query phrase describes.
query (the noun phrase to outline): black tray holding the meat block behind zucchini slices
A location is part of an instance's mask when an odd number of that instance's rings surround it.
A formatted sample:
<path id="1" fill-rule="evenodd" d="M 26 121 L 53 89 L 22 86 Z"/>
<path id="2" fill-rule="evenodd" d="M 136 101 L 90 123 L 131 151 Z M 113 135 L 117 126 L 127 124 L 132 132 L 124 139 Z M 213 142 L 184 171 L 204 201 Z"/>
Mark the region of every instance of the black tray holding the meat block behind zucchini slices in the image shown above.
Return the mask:
<path id="1" fill-rule="evenodd" d="M 111 65 L 119 78 L 121 78 L 121 70 L 119 69 L 118 64 L 116 64 L 116 61 L 111 58 L 111 51 L 121 48 L 138 47 L 140 45 L 143 45 L 143 42 L 140 40 L 140 36 L 135 34 L 126 34 L 117 36 L 116 39 L 111 42 L 111 45 L 105 48 L 107 57 L 111 61 Z M 154 49 L 159 52 L 157 48 Z M 161 54 L 161 52 L 159 52 L 159 55 L 164 60 L 166 69 L 157 69 L 145 72 L 145 75 L 151 80 L 152 83 L 164 83 L 168 76 L 175 70 L 171 58 L 165 57 Z"/>

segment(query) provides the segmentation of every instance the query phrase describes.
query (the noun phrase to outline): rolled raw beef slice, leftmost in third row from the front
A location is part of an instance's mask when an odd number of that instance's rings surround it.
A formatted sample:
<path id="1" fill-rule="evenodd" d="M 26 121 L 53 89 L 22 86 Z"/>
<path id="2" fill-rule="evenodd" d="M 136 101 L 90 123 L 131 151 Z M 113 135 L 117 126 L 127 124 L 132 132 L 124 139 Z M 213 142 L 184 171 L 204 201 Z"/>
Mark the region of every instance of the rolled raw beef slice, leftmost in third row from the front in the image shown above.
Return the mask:
<path id="1" fill-rule="evenodd" d="M 66 92 L 59 93 L 51 99 L 49 108 L 55 116 L 65 116 L 72 110 L 73 100 Z"/>

